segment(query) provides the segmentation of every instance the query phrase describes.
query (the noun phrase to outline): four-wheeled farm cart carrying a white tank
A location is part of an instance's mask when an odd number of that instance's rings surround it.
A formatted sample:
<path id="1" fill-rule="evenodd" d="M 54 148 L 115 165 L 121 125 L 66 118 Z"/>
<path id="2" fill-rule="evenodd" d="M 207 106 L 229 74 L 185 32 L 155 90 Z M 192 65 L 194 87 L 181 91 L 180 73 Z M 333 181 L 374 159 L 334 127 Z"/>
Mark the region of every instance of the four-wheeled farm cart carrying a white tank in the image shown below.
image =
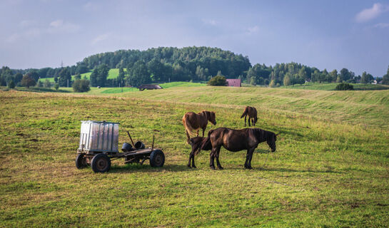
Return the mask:
<path id="1" fill-rule="evenodd" d="M 80 144 L 77 149 L 76 167 L 82 169 L 91 166 L 94 172 L 108 172 L 111 169 L 111 160 L 124 158 L 124 163 L 143 164 L 150 161 L 151 167 L 163 167 L 165 155 L 159 148 L 145 148 L 142 142 L 138 141 L 132 145 L 123 143 L 118 151 L 118 125 L 106 121 L 81 121 Z"/>

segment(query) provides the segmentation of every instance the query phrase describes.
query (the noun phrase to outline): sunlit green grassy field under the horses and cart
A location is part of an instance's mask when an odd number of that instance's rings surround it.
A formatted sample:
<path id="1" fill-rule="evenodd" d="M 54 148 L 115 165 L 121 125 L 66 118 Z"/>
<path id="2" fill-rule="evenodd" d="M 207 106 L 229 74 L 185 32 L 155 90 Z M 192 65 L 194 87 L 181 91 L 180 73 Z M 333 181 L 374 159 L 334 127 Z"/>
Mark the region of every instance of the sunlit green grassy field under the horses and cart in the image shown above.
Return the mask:
<path id="1" fill-rule="evenodd" d="M 107 91 L 111 88 L 106 88 Z M 94 90 L 92 90 L 94 91 Z M 102 90 L 98 90 L 102 91 Z M 387 227 L 389 90 L 176 86 L 126 93 L 0 91 L 0 227 Z M 181 118 L 214 110 L 218 124 L 243 128 L 245 105 L 258 127 L 281 133 L 253 170 L 246 152 L 208 152 L 188 169 Z M 123 165 L 94 174 L 74 165 L 81 120 L 121 123 L 163 148 L 162 168 Z"/>

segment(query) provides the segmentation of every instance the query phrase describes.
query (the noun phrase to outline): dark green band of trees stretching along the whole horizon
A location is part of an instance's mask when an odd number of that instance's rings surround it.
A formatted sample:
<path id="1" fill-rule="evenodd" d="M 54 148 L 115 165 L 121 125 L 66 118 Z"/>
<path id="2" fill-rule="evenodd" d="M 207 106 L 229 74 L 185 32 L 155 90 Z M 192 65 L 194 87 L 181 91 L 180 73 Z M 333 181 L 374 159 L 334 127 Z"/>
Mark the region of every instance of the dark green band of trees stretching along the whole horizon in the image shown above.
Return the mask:
<path id="1" fill-rule="evenodd" d="M 118 78 L 108 79 L 110 68 L 119 68 Z M 28 76 L 35 82 L 39 78 L 54 77 L 59 86 L 71 86 L 72 75 L 76 75 L 76 80 L 81 80 L 81 73 L 89 71 L 92 71 L 91 86 L 102 87 L 139 86 L 169 81 L 208 81 L 216 75 L 241 78 L 243 82 L 264 86 L 289 86 L 303 84 L 305 81 L 370 83 L 374 80 L 370 73 L 355 76 L 347 68 L 339 72 L 329 72 L 326 69 L 320 71 L 318 68 L 293 62 L 276 63 L 275 66 L 257 63 L 251 66 L 247 56 L 223 51 L 221 48 L 193 46 L 98 53 L 84 58 L 74 66 L 61 68 L 14 70 L 4 66 L 0 69 L 0 85 L 6 86 L 12 82 L 21 86 L 23 77 Z M 388 73 L 377 80 L 389 84 Z"/>

